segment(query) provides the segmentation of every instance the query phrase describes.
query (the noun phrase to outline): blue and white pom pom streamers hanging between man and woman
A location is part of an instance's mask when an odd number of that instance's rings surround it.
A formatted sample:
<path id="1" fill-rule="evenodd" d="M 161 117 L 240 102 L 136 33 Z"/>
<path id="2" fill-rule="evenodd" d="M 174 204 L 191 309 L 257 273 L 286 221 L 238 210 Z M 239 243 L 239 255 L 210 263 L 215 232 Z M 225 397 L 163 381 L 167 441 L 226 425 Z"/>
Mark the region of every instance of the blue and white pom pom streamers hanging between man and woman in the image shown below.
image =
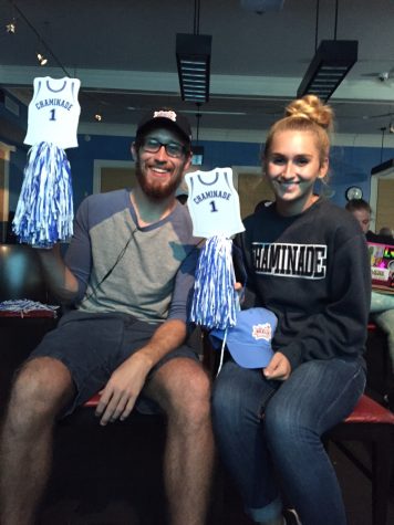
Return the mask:
<path id="1" fill-rule="evenodd" d="M 205 328 L 236 325 L 238 295 L 231 252 L 232 241 L 225 237 L 209 238 L 200 252 L 190 321 Z"/>

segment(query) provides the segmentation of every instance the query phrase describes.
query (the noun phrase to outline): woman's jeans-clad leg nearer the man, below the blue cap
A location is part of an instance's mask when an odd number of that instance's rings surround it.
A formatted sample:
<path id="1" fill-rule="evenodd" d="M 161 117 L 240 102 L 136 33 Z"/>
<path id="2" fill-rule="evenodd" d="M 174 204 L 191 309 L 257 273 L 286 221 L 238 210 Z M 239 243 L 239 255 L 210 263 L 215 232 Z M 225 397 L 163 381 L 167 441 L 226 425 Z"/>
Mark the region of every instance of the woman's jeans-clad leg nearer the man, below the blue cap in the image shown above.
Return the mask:
<path id="1" fill-rule="evenodd" d="M 214 431 L 221 458 L 236 481 L 247 513 L 269 523 L 281 503 L 263 434 L 262 412 L 276 387 L 261 370 L 227 361 L 214 385 Z"/>

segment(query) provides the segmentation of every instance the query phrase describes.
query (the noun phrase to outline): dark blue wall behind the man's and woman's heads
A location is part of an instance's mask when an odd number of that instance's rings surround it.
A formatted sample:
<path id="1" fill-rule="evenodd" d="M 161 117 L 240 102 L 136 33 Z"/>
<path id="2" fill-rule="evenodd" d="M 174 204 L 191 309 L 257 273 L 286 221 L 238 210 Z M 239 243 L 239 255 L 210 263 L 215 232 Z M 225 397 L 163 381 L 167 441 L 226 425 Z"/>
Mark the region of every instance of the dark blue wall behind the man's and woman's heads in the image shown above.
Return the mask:
<path id="1" fill-rule="evenodd" d="M 7 137 L 0 139 L 7 141 Z M 131 137 L 114 137 L 92 135 L 85 140 L 79 136 L 79 147 L 68 149 L 73 177 L 75 207 L 85 195 L 93 191 L 93 166 L 95 159 L 131 160 Z M 200 141 L 205 147 L 204 169 L 225 166 L 259 166 L 260 145 L 256 143 Z M 18 146 L 11 155 L 10 165 L 10 209 L 14 210 L 25 165 L 27 147 Z M 385 148 L 384 159 L 394 156 L 394 149 Z M 366 147 L 333 147 L 331 151 L 330 189 L 331 199 L 341 207 L 345 204 L 345 189 L 349 186 L 360 186 L 364 198 L 370 198 L 371 168 L 380 164 L 381 148 Z"/>

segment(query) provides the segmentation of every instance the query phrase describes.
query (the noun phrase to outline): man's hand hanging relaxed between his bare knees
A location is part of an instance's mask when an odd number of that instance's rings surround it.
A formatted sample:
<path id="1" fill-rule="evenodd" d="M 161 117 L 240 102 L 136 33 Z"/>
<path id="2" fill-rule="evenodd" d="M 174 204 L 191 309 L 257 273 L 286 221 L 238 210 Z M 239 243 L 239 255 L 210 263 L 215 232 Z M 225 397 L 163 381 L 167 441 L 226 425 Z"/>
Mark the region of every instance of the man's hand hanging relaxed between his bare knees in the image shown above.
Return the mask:
<path id="1" fill-rule="evenodd" d="M 112 374 L 105 388 L 100 392 L 101 399 L 95 414 L 101 417 L 100 424 L 126 419 L 144 387 L 151 363 L 142 351 L 136 351 Z"/>

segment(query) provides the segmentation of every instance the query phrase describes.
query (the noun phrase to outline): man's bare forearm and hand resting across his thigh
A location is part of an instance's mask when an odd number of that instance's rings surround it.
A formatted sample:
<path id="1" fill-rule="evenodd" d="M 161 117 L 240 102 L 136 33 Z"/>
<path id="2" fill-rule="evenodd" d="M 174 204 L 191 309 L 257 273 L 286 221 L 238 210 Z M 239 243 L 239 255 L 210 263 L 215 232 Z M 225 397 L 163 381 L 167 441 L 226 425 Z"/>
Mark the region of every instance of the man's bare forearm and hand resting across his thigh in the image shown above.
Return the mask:
<path id="1" fill-rule="evenodd" d="M 126 359 L 112 374 L 101 392 L 96 416 L 100 424 L 126 419 L 134 408 L 148 372 L 169 351 L 178 348 L 186 338 L 186 324 L 180 319 L 163 323 L 151 340 Z"/>

